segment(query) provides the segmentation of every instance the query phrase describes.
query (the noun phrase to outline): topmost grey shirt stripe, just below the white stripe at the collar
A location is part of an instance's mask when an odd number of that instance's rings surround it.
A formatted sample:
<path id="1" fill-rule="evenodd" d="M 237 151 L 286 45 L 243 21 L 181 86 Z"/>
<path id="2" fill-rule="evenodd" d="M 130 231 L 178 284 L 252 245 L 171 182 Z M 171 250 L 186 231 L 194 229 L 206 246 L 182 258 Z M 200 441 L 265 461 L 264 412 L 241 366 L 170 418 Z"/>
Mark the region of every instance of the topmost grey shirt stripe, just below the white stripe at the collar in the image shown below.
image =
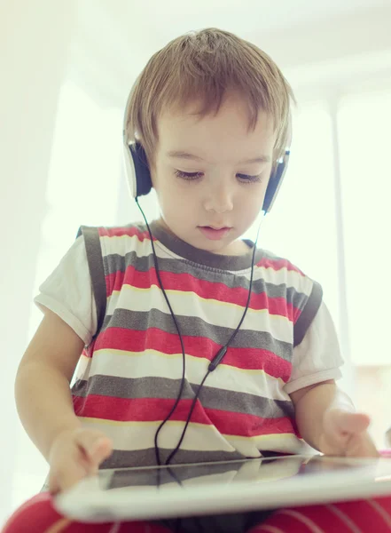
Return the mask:
<path id="1" fill-rule="evenodd" d="M 168 272 L 170 274 L 189 274 L 194 276 L 197 280 L 203 282 L 223 282 L 229 289 L 243 288 L 249 289 L 250 280 L 242 274 L 231 274 L 230 272 L 222 273 L 194 266 L 184 259 L 162 259 L 159 258 L 159 269 L 162 272 Z M 113 274 L 116 272 L 124 273 L 129 266 L 134 267 L 137 272 L 148 272 L 150 268 L 154 267 L 153 255 L 147 257 L 138 258 L 135 251 L 130 251 L 125 256 L 118 254 L 112 254 L 104 257 L 105 272 L 107 274 Z M 131 283 L 131 282 L 130 282 Z M 286 283 L 270 283 L 265 282 L 262 278 L 253 281 L 252 293 L 264 294 L 266 293 L 269 298 L 286 298 L 288 303 L 293 303 L 295 307 L 302 309 L 308 296 L 304 293 L 298 292 L 293 287 L 286 287 Z"/>

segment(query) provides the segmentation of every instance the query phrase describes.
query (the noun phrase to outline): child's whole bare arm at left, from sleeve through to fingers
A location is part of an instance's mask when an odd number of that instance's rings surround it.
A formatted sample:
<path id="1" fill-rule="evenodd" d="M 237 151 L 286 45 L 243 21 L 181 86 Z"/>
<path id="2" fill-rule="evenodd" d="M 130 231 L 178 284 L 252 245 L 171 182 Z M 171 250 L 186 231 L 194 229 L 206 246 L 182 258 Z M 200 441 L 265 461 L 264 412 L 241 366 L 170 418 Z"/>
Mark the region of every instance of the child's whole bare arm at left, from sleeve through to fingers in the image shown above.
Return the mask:
<path id="1" fill-rule="evenodd" d="M 111 453 L 105 434 L 83 429 L 74 414 L 70 381 L 84 343 L 47 310 L 27 347 L 15 397 L 27 434 L 51 465 L 50 489 L 66 489 Z"/>

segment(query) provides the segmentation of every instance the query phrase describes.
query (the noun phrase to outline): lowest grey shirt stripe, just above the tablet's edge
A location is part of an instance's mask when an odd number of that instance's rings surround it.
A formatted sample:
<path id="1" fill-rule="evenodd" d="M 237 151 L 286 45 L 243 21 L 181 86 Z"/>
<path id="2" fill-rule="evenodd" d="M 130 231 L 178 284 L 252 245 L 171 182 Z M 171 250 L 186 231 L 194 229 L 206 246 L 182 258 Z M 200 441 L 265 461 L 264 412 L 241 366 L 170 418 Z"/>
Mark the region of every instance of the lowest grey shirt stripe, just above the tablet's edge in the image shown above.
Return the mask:
<path id="1" fill-rule="evenodd" d="M 164 464 L 172 449 L 160 448 L 160 460 Z M 261 454 L 260 454 L 261 456 Z M 172 464 L 207 463 L 211 461 L 234 461 L 246 458 L 239 451 L 201 451 L 179 449 L 173 457 Z M 106 459 L 100 468 L 126 468 L 129 466 L 156 465 L 155 449 L 122 450 L 114 449 L 113 454 Z"/>

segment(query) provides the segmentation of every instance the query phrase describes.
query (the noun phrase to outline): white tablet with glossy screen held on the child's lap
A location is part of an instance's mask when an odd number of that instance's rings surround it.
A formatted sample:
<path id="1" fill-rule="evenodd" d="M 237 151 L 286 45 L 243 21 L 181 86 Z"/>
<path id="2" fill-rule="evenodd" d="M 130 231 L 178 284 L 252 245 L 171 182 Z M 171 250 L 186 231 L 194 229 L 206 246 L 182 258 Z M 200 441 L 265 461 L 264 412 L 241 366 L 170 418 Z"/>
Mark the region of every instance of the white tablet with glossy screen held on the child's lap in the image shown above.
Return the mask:
<path id="1" fill-rule="evenodd" d="M 391 495 L 391 459 L 289 456 L 100 470 L 55 497 L 79 521 L 160 520 Z"/>

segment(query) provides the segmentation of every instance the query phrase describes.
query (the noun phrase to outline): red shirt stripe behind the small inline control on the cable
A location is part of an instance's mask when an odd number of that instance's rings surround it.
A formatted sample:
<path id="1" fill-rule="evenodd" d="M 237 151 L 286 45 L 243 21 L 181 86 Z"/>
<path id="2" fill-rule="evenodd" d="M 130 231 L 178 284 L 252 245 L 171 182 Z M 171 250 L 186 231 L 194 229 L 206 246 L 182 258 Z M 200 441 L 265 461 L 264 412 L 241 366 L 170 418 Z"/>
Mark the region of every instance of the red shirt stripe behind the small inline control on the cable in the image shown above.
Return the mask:
<path id="1" fill-rule="evenodd" d="M 183 336 L 185 354 L 202 357 L 211 361 L 221 345 L 206 337 Z M 176 333 L 166 333 L 158 328 L 146 331 L 109 328 L 99 335 L 94 350 L 128 350 L 137 354 L 145 350 L 156 350 L 162 354 L 181 354 L 182 348 Z M 264 370 L 273 378 L 289 380 L 292 363 L 285 361 L 262 348 L 230 346 L 223 358 L 223 363 L 243 370 Z M 207 366 L 207 365 L 206 365 Z"/>

